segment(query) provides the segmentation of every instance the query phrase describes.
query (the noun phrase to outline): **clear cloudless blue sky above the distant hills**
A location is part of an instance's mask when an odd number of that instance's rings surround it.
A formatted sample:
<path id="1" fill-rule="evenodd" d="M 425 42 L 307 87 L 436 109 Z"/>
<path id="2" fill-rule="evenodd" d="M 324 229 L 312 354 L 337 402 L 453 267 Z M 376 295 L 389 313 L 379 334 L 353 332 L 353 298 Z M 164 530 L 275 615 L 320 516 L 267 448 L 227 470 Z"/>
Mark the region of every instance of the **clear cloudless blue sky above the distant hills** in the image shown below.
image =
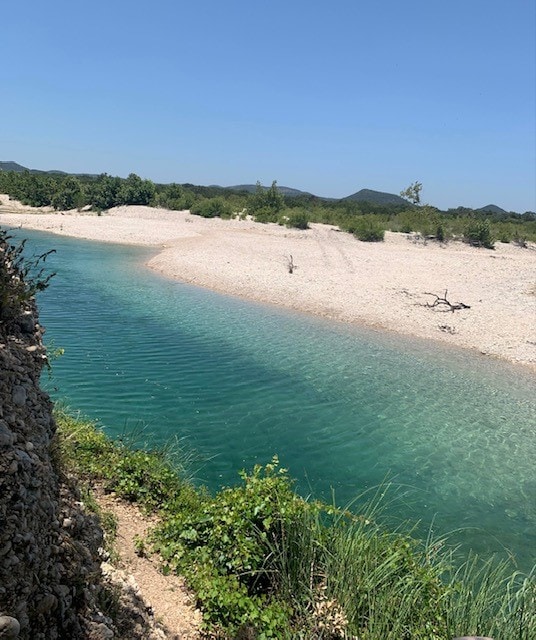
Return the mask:
<path id="1" fill-rule="evenodd" d="M 536 210 L 534 0 L 12 0 L 0 160 Z"/>

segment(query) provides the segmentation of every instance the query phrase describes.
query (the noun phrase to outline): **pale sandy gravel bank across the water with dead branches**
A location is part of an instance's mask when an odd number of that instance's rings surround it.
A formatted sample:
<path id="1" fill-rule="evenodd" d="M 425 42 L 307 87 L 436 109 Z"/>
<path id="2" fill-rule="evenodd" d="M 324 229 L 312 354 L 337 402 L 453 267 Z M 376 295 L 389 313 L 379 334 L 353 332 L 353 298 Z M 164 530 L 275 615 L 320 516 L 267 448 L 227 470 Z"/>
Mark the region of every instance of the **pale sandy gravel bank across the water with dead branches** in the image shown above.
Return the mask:
<path id="1" fill-rule="evenodd" d="M 167 276 L 524 364 L 536 371 L 536 247 L 424 244 L 386 233 L 359 242 L 334 227 L 307 231 L 188 212 L 117 207 L 102 216 L 28 209 L 0 196 L 0 225 L 155 247 Z M 295 265 L 289 273 L 292 256 Z M 436 294 L 470 308 L 431 309 Z"/>

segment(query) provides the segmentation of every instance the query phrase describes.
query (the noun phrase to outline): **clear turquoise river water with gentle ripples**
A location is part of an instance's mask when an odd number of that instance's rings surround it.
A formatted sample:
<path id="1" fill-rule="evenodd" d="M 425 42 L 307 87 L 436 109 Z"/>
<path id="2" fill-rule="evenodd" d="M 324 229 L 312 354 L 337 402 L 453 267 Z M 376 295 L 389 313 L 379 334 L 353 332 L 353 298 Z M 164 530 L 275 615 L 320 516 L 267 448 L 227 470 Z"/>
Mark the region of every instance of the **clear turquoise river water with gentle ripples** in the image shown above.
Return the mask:
<path id="1" fill-rule="evenodd" d="M 39 304 L 65 355 L 47 384 L 110 433 L 185 437 L 213 488 L 274 453 L 300 491 L 339 504 L 389 479 L 391 522 L 536 561 L 524 369 L 172 281 L 143 267 L 145 249 L 24 235 L 57 249 Z"/>

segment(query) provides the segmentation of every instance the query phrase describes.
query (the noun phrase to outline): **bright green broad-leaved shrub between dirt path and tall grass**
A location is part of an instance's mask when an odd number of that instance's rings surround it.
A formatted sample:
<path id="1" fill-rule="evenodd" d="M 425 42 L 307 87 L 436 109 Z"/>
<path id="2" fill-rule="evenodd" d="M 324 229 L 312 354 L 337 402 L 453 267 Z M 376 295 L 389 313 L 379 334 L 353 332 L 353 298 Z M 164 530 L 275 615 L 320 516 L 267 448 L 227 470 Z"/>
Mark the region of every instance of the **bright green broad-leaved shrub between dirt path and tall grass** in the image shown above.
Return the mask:
<path id="1" fill-rule="evenodd" d="M 174 511 L 155 531 L 154 549 L 194 587 L 205 622 L 232 634 L 245 626 L 262 630 L 259 637 L 284 637 L 290 609 L 273 597 L 270 548 L 310 507 L 277 458 L 240 475 L 241 485 Z"/>

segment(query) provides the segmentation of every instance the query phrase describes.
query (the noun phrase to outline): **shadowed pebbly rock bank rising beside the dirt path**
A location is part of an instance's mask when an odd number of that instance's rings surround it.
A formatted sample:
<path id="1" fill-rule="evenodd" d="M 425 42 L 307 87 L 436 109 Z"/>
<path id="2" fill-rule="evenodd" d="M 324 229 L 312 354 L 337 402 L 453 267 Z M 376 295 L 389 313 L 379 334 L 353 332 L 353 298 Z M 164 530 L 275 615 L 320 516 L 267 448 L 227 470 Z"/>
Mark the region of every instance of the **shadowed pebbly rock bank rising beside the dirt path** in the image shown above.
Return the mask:
<path id="1" fill-rule="evenodd" d="M 113 637 L 97 606 L 102 530 L 61 476 L 43 330 L 31 299 L 6 308 L 9 278 L 20 290 L 8 250 L 0 242 L 0 638 Z"/>

